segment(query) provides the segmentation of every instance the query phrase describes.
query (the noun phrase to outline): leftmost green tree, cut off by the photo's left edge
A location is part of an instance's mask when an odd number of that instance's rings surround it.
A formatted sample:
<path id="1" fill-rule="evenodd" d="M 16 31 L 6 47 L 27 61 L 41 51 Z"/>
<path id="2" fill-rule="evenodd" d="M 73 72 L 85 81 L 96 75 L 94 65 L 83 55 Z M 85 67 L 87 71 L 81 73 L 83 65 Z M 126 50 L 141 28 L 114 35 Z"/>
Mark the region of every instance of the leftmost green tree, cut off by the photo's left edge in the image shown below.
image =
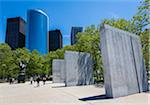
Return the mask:
<path id="1" fill-rule="evenodd" d="M 11 48 L 7 44 L 0 44 L 0 78 L 16 77 L 18 72 Z"/>

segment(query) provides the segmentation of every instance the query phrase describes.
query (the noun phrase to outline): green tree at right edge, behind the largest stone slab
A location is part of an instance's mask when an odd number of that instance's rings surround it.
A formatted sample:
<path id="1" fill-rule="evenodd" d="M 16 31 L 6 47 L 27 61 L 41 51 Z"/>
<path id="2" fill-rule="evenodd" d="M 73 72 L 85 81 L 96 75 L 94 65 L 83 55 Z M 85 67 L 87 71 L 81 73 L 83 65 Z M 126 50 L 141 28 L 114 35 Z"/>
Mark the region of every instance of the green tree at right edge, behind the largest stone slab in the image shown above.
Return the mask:
<path id="1" fill-rule="evenodd" d="M 136 33 L 141 37 L 142 50 L 146 69 L 150 72 L 150 0 L 143 0 L 138 7 L 138 12 L 133 16 L 132 22 Z M 150 78 L 150 75 L 149 75 Z"/>

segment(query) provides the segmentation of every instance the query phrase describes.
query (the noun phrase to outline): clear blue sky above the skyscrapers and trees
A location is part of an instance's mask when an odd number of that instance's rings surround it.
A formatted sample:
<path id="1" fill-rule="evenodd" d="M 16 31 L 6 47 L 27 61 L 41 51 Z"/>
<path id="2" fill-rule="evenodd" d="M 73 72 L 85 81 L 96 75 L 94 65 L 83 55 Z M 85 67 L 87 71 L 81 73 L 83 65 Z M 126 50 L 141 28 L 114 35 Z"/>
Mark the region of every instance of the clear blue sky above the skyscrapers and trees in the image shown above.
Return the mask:
<path id="1" fill-rule="evenodd" d="M 60 29 L 64 45 L 70 44 L 72 26 L 98 25 L 103 19 L 131 19 L 140 0 L 0 0 L 0 43 L 5 41 L 6 19 L 28 9 L 41 9 L 49 16 L 49 29 Z"/>

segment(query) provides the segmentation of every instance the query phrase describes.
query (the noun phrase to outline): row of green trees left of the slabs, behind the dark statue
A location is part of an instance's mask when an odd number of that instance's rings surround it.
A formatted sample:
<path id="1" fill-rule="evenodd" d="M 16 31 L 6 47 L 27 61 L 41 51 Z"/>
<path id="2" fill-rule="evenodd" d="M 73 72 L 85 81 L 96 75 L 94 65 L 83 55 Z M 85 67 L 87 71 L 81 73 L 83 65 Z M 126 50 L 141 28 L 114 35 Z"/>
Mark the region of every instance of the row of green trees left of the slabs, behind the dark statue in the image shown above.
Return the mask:
<path id="1" fill-rule="evenodd" d="M 50 74 L 49 62 L 36 50 L 29 52 L 26 48 L 11 50 L 7 44 L 0 44 L 0 78 L 17 78 L 20 62 L 26 65 L 26 76 Z"/>

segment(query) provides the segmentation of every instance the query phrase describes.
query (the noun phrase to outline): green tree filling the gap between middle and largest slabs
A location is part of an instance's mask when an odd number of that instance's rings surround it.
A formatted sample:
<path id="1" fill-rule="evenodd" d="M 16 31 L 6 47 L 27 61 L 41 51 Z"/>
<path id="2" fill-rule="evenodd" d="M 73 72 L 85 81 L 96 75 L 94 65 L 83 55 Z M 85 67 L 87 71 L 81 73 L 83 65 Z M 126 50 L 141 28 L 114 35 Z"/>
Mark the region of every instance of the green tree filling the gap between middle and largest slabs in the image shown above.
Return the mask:
<path id="1" fill-rule="evenodd" d="M 84 32 L 77 34 L 77 43 L 75 48 L 79 52 L 88 52 L 92 55 L 94 61 L 94 78 L 95 81 L 103 81 L 103 64 L 101 51 L 99 48 L 100 35 L 99 26 L 91 25 Z"/>

